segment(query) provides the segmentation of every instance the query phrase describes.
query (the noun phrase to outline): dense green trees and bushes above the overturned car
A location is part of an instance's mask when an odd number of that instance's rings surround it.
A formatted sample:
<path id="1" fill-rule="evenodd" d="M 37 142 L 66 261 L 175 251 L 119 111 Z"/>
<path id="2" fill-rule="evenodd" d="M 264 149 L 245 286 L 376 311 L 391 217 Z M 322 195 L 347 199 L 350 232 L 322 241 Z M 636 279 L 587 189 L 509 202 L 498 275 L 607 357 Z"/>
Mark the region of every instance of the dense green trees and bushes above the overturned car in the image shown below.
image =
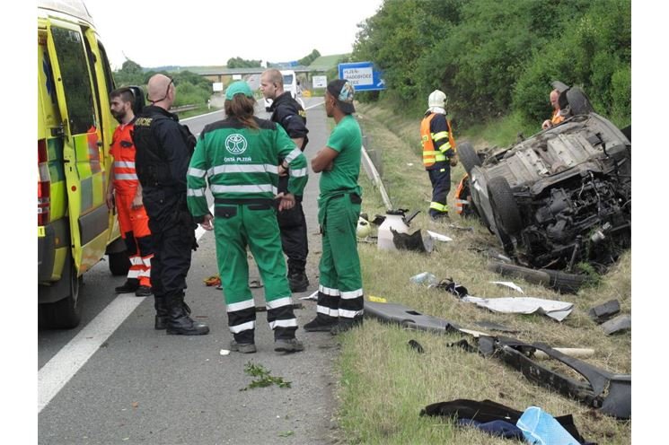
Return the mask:
<path id="1" fill-rule="evenodd" d="M 385 97 L 423 111 L 435 89 L 461 124 L 550 115 L 550 83 L 578 85 L 594 109 L 631 122 L 631 0 L 384 0 L 358 25 L 351 59 L 374 61 Z"/>

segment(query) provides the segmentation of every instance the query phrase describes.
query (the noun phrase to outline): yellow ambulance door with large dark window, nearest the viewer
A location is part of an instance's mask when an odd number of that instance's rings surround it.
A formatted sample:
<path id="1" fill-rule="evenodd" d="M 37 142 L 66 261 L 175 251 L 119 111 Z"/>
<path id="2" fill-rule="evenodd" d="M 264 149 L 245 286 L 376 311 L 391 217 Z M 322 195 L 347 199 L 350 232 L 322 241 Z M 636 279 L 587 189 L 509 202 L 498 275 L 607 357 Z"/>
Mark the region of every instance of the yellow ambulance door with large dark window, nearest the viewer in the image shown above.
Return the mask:
<path id="1" fill-rule="evenodd" d="M 104 201 L 101 128 L 92 69 L 80 26 L 51 20 L 48 52 L 64 135 L 67 212 L 72 254 L 79 274 L 104 256 L 109 213 Z"/>

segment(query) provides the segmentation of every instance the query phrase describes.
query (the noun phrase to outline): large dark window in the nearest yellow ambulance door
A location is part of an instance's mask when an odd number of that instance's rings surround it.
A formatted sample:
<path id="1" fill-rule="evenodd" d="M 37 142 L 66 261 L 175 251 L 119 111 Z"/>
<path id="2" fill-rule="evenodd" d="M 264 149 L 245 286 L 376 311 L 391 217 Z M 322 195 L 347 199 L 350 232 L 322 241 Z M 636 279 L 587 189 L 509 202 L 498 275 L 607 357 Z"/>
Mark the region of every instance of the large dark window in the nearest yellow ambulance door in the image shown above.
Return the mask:
<path id="1" fill-rule="evenodd" d="M 80 32 L 51 28 L 56 46 L 60 76 L 66 95 L 67 114 L 72 135 L 86 133 L 95 126 L 91 78 Z"/>

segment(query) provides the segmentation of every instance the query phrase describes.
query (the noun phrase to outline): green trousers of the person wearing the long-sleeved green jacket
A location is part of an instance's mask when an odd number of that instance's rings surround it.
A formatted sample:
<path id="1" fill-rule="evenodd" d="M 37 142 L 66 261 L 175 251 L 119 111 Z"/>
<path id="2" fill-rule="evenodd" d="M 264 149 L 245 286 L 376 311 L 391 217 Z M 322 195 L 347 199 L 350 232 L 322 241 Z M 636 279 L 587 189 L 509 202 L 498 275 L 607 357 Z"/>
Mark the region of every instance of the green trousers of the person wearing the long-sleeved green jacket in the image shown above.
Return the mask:
<path id="1" fill-rule="evenodd" d="M 265 286 L 268 322 L 275 338 L 294 338 L 297 320 L 274 208 L 269 204 L 216 204 L 214 214 L 218 273 L 234 339 L 254 343 L 256 311 L 249 288 L 247 246 Z"/>

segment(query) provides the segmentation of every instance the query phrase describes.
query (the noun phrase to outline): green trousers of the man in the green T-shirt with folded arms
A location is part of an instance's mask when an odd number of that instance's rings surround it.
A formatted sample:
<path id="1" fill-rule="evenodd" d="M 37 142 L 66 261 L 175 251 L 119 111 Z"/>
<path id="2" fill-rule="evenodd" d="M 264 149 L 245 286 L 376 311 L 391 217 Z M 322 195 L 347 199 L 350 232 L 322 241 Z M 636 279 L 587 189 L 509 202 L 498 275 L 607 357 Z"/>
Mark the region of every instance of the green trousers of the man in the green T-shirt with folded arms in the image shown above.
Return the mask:
<path id="1" fill-rule="evenodd" d="M 322 255 L 316 312 L 324 323 L 331 323 L 333 318 L 363 316 L 363 282 L 356 239 L 360 203 L 355 193 L 335 195 L 319 203 Z"/>

